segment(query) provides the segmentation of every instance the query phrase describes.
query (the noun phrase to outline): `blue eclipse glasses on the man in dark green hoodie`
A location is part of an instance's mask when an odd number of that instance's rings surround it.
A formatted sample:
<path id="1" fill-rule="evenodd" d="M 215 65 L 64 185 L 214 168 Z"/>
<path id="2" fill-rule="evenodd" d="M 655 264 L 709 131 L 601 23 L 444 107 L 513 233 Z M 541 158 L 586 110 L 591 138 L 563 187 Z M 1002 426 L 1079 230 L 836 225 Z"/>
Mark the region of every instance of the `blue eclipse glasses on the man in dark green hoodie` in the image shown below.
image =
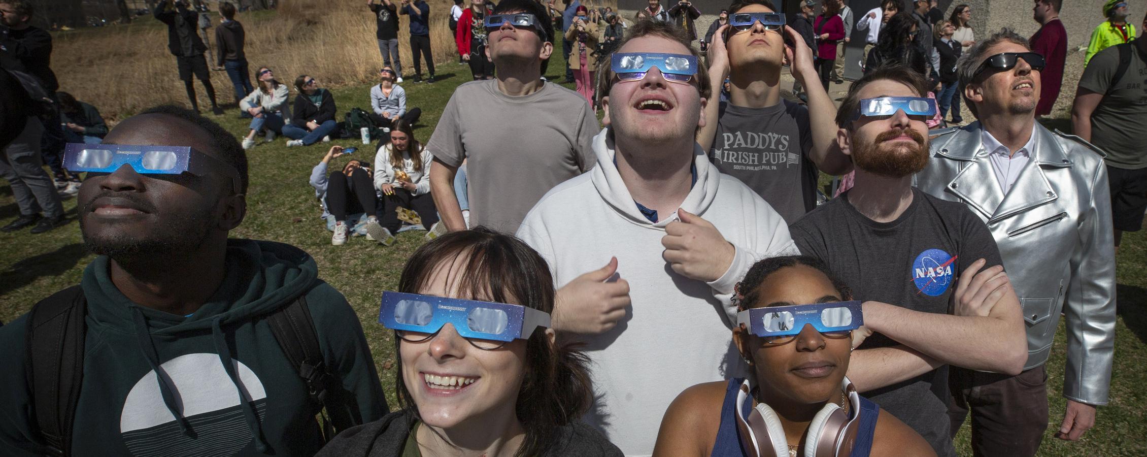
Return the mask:
<path id="1" fill-rule="evenodd" d="M 243 192 L 239 170 L 188 146 L 69 142 L 64 148 L 64 169 L 71 172 L 114 173 L 124 165 L 131 165 L 140 175 L 179 175 L 186 171 L 203 177 L 212 171 L 223 171 L 231 179 L 235 193 Z"/>

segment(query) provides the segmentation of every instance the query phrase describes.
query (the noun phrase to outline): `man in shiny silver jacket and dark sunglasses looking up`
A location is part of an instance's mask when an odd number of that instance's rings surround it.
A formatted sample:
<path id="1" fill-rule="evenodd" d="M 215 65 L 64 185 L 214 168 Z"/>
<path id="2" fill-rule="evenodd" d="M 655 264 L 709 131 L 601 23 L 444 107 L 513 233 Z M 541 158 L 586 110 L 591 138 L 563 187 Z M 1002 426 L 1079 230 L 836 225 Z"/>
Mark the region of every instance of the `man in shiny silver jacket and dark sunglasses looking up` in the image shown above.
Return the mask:
<path id="1" fill-rule="evenodd" d="M 1115 61 L 1109 59 L 1098 63 Z M 976 455 L 1033 456 L 1039 449 L 1048 420 L 1045 364 L 1061 311 L 1067 410 L 1056 436 L 1078 440 L 1094 424 L 1095 406 L 1107 404 L 1115 342 L 1107 170 L 1102 153 L 1036 122 L 1044 64 L 1006 29 L 969 48 L 960 84 L 980 121 L 934 140 L 931 163 L 916 176 L 922 191 L 962 202 L 988 223 L 1023 304 L 1028 358 L 1020 375 L 953 373 L 952 424 L 970 412 Z M 1086 73 L 1084 80 L 1094 82 Z M 1128 92 L 1136 100 L 1141 94 Z M 1078 123 L 1076 129 L 1086 132 Z"/>

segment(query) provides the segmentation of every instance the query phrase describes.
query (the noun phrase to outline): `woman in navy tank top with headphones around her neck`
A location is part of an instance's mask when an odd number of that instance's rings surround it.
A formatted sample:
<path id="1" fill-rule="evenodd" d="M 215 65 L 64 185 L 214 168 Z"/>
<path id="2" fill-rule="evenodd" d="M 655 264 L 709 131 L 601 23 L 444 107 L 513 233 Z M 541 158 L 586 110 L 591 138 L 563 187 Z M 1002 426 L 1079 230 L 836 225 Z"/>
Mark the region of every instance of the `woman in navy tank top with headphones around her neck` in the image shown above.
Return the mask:
<path id="1" fill-rule="evenodd" d="M 851 291 L 829 273 L 824 262 L 805 256 L 759 261 L 736 285 L 736 299 L 739 325 L 733 327 L 733 341 L 750 365 L 748 380 L 699 384 L 678 395 L 662 419 L 654 456 L 758 455 L 754 449 L 775 451 L 778 456 L 794 451 L 812 455 L 809 448 L 824 447 L 825 437 L 835 437 L 840 426 L 851 426 L 853 420 L 855 442 L 845 443 L 849 448 L 834 449 L 837 456 L 936 455 L 919 433 L 857 395 L 852 382 L 844 377 L 853 340 L 849 327 L 859 327 L 864 320 L 851 313 L 848 322 L 841 318 L 851 312 L 849 304 L 859 310 L 860 303 L 851 302 Z M 829 308 L 837 302 L 841 308 Z M 759 315 L 751 310 L 774 307 L 777 311 L 762 313 L 762 322 L 754 322 Z M 809 313 L 810 310 L 814 313 Z M 817 316 L 816 324 L 807 320 L 802 324 L 801 311 Z M 794 316 L 797 325 L 789 325 L 786 317 Z M 822 322 L 821 316 L 836 319 Z M 768 324 L 778 326 L 770 328 Z M 840 331 L 821 332 L 814 327 L 818 324 L 837 325 Z M 762 330 L 789 334 L 758 336 Z M 755 421 L 756 415 L 764 420 Z M 845 420 L 834 427 L 829 419 L 833 415 Z M 819 418 L 829 419 L 829 424 L 816 428 Z M 752 439 L 746 432 L 751 432 Z M 821 455 L 822 450 L 814 451 Z"/>

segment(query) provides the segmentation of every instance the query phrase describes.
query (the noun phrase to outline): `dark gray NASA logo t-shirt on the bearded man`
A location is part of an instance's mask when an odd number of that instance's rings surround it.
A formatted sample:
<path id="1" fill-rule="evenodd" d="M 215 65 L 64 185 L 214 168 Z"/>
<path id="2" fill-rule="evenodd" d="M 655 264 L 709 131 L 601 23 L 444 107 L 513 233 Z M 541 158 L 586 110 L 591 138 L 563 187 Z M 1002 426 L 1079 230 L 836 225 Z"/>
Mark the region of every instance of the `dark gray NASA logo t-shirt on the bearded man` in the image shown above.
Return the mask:
<path id="1" fill-rule="evenodd" d="M 912 204 L 890 223 L 857 211 L 848 192 L 789 227 L 801 253 L 825 261 L 852 289 L 852 297 L 914 311 L 947 313 L 954 278 L 973 262 L 1001 265 L 999 248 L 983 220 L 963 203 L 912 188 Z M 898 344 L 880 333 L 857 349 Z M 947 365 L 864 396 L 920 433 L 936 455 L 954 457 L 949 435 Z"/>

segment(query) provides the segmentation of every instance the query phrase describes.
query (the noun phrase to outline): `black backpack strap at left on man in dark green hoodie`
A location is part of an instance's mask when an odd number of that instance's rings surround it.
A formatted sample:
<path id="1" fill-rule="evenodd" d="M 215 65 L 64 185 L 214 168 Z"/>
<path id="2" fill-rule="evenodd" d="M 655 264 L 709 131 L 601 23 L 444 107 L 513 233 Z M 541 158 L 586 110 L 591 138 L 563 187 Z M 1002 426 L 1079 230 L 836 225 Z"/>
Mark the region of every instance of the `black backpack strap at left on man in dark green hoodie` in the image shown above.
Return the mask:
<path id="1" fill-rule="evenodd" d="M 45 454 L 71 454 L 72 421 L 84 377 L 87 299 L 72 286 L 41 300 L 28 313 L 24 373 L 32 400 L 32 423 Z"/>

